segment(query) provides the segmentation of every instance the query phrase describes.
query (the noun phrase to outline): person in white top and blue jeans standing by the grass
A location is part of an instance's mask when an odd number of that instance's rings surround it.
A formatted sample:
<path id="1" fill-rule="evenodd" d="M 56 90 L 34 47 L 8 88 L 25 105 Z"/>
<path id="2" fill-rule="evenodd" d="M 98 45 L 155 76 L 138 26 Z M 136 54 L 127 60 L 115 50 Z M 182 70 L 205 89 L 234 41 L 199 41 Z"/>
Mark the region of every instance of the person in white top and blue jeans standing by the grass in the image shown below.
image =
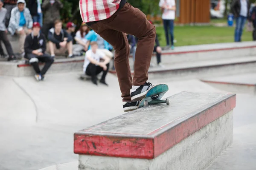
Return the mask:
<path id="1" fill-rule="evenodd" d="M 163 26 L 166 34 L 166 45 L 170 46 L 170 42 L 169 42 L 169 34 L 170 34 L 171 48 L 174 49 L 173 30 L 174 30 L 174 20 L 175 20 L 175 11 L 176 11 L 175 0 L 160 0 L 159 6 L 163 12 L 162 19 L 163 19 Z"/>

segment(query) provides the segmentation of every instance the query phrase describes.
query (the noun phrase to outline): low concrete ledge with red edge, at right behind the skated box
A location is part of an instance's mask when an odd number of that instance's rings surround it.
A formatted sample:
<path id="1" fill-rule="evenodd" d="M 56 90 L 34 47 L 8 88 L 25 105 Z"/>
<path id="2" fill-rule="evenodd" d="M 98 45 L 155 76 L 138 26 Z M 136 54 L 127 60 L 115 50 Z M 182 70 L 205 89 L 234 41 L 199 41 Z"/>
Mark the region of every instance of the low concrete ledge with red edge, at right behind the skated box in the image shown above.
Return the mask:
<path id="1" fill-rule="evenodd" d="M 238 74 L 201 79 L 207 84 L 233 93 L 256 94 L 256 74 Z"/>

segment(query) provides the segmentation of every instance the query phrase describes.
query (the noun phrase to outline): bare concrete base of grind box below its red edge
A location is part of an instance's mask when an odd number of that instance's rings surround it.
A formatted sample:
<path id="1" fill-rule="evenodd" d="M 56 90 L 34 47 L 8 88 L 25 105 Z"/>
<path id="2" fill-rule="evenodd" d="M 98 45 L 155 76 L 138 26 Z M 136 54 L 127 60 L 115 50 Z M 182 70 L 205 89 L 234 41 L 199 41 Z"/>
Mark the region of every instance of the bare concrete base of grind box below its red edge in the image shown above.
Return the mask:
<path id="1" fill-rule="evenodd" d="M 233 111 L 155 159 L 79 155 L 79 170 L 203 170 L 233 141 Z"/>

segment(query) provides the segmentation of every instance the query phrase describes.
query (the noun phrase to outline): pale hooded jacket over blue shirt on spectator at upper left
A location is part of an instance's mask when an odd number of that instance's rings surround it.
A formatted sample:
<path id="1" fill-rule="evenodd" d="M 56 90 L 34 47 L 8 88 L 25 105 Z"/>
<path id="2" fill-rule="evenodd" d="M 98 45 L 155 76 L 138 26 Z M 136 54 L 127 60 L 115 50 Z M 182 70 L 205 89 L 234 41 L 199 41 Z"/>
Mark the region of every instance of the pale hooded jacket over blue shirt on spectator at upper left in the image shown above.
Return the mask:
<path id="1" fill-rule="evenodd" d="M 23 11 L 19 11 L 18 3 L 24 3 Z M 8 31 L 11 35 L 15 34 L 15 31 L 21 31 L 23 26 L 26 26 L 28 29 L 31 29 L 33 26 L 33 20 L 30 15 L 30 11 L 26 8 L 25 0 L 17 0 L 17 6 L 12 9 L 11 18 L 8 26 Z"/>

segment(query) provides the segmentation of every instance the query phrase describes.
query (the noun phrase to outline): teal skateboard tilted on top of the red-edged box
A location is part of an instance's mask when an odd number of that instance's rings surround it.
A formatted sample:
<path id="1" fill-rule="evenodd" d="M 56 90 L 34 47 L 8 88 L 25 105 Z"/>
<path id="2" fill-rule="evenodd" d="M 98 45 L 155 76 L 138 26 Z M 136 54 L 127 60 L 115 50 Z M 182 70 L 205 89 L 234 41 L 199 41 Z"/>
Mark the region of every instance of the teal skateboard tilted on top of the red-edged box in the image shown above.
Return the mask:
<path id="1" fill-rule="evenodd" d="M 143 106 L 148 105 L 156 105 L 160 103 L 166 103 L 167 105 L 170 104 L 170 99 L 161 100 L 163 95 L 169 90 L 168 85 L 166 84 L 160 84 L 156 85 L 153 88 L 151 88 L 145 95 L 143 99 L 141 99 L 140 104 L 138 105 L 138 108 L 141 108 Z"/>

